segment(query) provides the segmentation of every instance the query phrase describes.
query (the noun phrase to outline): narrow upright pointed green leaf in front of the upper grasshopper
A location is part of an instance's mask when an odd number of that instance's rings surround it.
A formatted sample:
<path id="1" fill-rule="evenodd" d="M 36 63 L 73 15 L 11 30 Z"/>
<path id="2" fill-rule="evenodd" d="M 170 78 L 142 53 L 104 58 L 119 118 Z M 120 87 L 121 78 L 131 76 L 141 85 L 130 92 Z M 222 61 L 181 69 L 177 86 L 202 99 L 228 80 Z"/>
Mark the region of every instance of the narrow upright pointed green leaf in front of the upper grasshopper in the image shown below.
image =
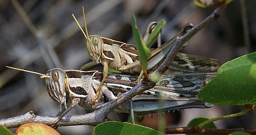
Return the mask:
<path id="1" fill-rule="evenodd" d="M 143 43 L 141 32 L 137 27 L 137 21 L 134 14 L 132 15 L 132 33 L 134 35 L 134 41 L 135 41 L 136 49 L 138 51 L 141 68 L 145 71 L 147 70 L 147 61 L 150 56 L 150 49 L 147 46 L 145 46 Z"/>

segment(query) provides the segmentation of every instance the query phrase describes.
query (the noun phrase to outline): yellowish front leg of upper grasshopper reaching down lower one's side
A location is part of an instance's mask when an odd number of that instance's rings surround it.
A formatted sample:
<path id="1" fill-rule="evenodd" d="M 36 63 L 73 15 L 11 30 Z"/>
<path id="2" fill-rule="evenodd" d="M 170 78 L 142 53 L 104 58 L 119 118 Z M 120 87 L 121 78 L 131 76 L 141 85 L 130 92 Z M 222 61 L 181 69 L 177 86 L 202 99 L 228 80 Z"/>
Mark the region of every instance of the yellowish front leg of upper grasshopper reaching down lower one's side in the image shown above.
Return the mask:
<path id="1" fill-rule="evenodd" d="M 94 99 L 91 101 L 91 104 L 95 104 L 96 101 L 98 100 L 98 97 L 100 95 L 100 90 L 102 90 L 102 86 L 104 85 L 104 81 L 107 78 L 108 62 L 106 60 L 104 60 L 102 62 L 102 64 L 103 64 L 103 78 L 102 78 L 102 81 L 100 82 L 100 85 L 98 86 L 98 89 L 97 89 L 97 92 L 96 92 L 96 95 L 95 95 Z"/>

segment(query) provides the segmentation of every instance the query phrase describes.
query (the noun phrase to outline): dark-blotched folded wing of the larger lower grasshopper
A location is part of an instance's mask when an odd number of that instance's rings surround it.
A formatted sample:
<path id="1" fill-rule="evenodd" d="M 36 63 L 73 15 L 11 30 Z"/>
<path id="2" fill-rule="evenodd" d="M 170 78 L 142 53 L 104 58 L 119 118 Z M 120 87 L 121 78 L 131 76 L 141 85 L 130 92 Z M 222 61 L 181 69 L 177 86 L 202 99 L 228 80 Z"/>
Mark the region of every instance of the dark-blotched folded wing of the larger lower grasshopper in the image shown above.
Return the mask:
<path id="1" fill-rule="evenodd" d="M 197 97 L 197 93 L 210 81 L 216 73 L 187 73 L 163 75 L 154 88 L 143 92 L 145 95 L 158 96 L 160 93 L 167 97 Z M 136 75 L 109 73 L 106 87 L 113 93 L 128 92 L 136 85 Z M 142 81 L 142 80 L 141 80 Z"/>

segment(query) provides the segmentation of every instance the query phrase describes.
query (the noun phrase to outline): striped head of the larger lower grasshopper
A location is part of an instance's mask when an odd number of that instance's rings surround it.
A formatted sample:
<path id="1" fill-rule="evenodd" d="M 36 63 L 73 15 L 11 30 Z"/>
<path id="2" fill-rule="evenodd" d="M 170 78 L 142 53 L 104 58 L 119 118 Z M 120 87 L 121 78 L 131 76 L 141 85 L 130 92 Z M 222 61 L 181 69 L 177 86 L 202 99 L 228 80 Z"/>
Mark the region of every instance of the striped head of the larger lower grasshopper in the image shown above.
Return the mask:
<path id="1" fill-rule="evenodd" d="M 63 69 L 54 68 L 47 71 L 46 78 L 47 91 L 54 101 L 66 104 L 66 73 Z"/>

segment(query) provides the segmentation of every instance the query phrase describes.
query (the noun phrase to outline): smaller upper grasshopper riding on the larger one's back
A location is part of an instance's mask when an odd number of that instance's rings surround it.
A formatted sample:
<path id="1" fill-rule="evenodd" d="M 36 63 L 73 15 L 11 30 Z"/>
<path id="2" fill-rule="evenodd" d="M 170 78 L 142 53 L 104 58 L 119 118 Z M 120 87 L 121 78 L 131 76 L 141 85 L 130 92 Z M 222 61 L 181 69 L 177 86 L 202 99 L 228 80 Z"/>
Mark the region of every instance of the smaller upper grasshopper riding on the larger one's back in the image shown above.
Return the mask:
<path id="1" fill-rule="evenodd" d="M 72 14 L 72 16 L 74 17 L 76 23 L 78 23 L 74 14 Z M 83 20 L 85 23 L 85 32 L 79 23 L 78 26 L 87 40 L 87 52 L 89 53 L 92 62 L 82 66 L 81 70 L 85 70 L 96 64 L 102 64 L 104 66 L 102 81 L 98 87 L 95 98 L 92 100 L 92 104 L 94 104 L 99 98 L 100 90 L 107 78 L 109 67 L 122 71 L 123 73 L 141 73 L 141 67 L 135 45 L 111 40 L 98 35 L 89 36 L 85 21 L 84 8 Z M 173 46 L 173 43 L 175 43 L 176 39 L 186 34 L 187 31 L 192 29 L 192 27 L 192 24 L 188 23 L 188 25 L 185 25 L 184 28 L 178 32 L 178 34 L 171 38 L 171 40 L 164 43 L 157 49 L 151 49 L 151 55 L 148 60 L 147 67 L 149 72 L 154 71 L 158 66 L 160 66 L 167 56 L 167 53 L 171 50 L 171 47 Z M 218 67 L 220 67 L 220 63 L 216 59 L 178 53 L 173 64 L 169 66 L 166 73 L 172 73 L 173 71 L 183 71 L 187 73 L 208 73 L 216 72 Z"/>

